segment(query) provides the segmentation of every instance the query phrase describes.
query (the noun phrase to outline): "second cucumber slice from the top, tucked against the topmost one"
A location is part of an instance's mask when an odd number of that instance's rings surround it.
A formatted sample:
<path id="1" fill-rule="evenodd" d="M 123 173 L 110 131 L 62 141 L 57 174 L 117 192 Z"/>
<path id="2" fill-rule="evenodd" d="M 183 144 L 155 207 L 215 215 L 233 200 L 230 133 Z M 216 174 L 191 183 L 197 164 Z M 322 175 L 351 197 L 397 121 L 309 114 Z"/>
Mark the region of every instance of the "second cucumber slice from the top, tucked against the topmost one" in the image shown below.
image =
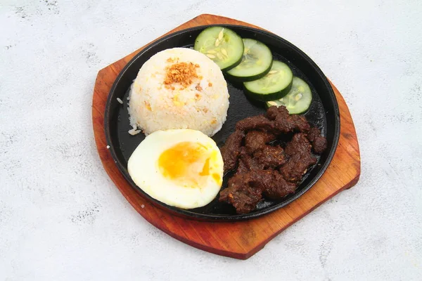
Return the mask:
<path id="1" fill-rule="evenodd" d="M 226 74 L 237 81 L 253 81 L 264 77 L 271 69 L 271 51 L 255 39 L 243 39 L 243 45 L 245 48 L 241 64 Z"/>

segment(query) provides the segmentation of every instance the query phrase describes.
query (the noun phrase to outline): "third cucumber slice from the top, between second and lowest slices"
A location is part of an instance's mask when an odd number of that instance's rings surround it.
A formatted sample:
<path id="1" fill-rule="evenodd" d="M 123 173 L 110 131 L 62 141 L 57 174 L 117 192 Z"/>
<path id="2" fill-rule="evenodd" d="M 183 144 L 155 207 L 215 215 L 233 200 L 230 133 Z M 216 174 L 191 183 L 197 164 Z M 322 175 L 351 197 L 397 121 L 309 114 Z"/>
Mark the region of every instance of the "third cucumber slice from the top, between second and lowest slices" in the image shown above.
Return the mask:
<path id="1" fill-rule="evenodd" d="M 244 82 L 245 93 L 254 100 L 278 100 L 286 96 L 292 87 L 293 72 L 286 63 L 274 60 L 271 70 L 255 81 Z"/>

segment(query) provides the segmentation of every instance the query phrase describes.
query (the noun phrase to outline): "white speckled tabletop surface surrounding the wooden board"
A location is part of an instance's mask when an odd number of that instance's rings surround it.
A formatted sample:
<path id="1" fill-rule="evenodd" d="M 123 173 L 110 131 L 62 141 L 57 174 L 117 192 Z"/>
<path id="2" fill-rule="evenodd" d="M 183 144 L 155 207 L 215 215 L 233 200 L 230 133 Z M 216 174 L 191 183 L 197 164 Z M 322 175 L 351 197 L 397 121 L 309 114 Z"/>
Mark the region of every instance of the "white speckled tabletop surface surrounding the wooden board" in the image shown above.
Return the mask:
<path id="1" fill-rule="evenodd" d="M 200 13 L 302 48 L 359 136 L 359 183 L 247 261 L 147 223 L 94 145 L 98 70 Z M 419 0 L 2 0 L 0 280 L 422 280 L 421 18 Z"/>

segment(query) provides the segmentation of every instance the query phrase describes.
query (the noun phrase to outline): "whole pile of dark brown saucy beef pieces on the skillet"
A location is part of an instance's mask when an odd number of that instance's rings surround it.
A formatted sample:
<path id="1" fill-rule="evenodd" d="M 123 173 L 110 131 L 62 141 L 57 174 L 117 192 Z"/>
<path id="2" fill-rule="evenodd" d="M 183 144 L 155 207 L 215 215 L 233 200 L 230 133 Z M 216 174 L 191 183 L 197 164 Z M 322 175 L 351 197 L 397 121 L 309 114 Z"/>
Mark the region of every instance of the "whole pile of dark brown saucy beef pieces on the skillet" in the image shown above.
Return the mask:
<path id="1" fill-rule="evenodd" d="M 222 147 L 224 172 L 236 170 L 219 201 L 247 214 L 264 198 L 277 200 L 295 192 L 307 169 L 316 164 L 327 141 L 302 115 L 269 107 L 266 115 L 242 119 Z"/>

